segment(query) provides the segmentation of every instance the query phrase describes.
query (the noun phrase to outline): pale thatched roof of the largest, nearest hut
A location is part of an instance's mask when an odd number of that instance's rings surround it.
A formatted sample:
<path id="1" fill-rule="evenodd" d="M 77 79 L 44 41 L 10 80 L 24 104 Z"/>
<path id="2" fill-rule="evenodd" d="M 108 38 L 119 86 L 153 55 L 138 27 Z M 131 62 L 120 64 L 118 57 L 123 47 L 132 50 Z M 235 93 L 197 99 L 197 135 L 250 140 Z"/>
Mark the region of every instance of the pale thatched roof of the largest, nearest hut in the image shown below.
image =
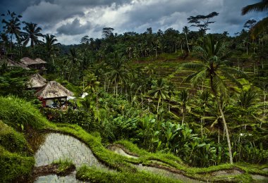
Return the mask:
<path id="1" fill-rule="evenodd" d="M 73 96 L 73 92 L 70 92 L 58 82 L 51 81 L 48 82 L 43 89 L 37 92 L 37 96 L 42 97 L 43 99 L 63 98 Z"/>

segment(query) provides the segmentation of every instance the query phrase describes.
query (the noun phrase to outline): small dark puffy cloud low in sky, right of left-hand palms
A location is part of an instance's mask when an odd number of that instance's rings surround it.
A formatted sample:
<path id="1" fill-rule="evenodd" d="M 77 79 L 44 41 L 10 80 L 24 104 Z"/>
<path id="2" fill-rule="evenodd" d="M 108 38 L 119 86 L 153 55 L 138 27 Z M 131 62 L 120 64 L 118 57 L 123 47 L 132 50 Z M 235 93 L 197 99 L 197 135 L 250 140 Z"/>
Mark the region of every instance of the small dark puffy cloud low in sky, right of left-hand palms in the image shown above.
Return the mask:
<path id="1" fill-rule="evenodd" d="M 80 21 L 75 18 L 72 23 L 66 23 L 65 25 L 61 25 L 56 31 L 59 34 L 66 34 L 66 35 L 76 35 L 76 34 L 83 34 L 87 30 L 90 29 L 90 23 L 86 23 L 85 25 L 81 25 Z"/>

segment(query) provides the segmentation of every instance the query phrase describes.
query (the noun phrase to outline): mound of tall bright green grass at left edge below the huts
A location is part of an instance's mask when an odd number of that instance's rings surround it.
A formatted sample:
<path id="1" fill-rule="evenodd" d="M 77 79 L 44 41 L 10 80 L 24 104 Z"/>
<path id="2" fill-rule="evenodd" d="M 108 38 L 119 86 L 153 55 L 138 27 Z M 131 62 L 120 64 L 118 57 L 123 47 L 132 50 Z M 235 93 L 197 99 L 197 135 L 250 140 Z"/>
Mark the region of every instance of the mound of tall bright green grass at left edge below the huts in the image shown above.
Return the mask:
<path id="1" fill-rule="evenodd" d="M 16 130 L 24 130 L 28 125 L 40 130 L 49 124 L 30 102 L 15 96 L 0 96 L 0 120 Z"/>

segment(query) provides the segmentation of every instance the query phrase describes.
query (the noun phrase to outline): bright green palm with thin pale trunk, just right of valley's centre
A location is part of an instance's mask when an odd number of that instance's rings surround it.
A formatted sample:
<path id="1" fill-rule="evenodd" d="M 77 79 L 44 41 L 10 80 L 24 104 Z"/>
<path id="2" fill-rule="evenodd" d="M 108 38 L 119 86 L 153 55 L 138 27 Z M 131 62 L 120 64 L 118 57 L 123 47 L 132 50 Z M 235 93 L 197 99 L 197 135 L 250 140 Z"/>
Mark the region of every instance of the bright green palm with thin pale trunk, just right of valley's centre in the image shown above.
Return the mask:
<path id="1" fill-rule="evenodd" d="M 152 94 L 154 98 L 158 99 L 157 102 L 157 113 L 159 111 L 160 101 L 164 101 L 169 96 L 169 86 L 166 84 L 166 80 L 160 78 L 159 80 L 152 81 L 151 90 L 148 92 Z"/>

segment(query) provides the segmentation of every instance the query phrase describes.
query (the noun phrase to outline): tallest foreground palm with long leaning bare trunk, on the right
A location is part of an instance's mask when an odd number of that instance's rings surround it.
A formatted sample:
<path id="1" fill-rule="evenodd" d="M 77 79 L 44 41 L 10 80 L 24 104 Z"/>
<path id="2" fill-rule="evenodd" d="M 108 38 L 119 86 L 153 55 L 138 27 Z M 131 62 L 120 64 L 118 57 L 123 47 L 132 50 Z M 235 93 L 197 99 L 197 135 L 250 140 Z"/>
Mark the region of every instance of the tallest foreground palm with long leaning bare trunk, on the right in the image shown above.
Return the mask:
<path id="1" fill-rule="evenodd" d="M 239 70 L 236 70 L 235 68 L 229 68 L 226 66 L 226 61 L 224 61 L 224 58 L 226 58 L 226 53 L 224 53 L 224 51 L 224 45 L 220 44 L 219 42 L 215 42 L 214 37 L 209 35 L 207 39 L 205 39 L 203 47 L 197 46 L 197 53 L 202 59 L 202 63 L 185 63 L 182 65 L 182 68 L 190 68 L 195 70 L 193 74 L 188 75 L 188 77 L 185 79 L 193 84 L 197 84 L 197 82 L 200 82 L 200 80 L 204 78 L 209 80 L 209 87 L 216 99 L 217 106 L 224 123 L 224 129 L 226 130 L 229 158 L 230 163 L 232 164 L 233 156 L 231 151 L 229 130 L 221 105 L 224 97 L 227 98 L 228 96 L 227 85 L 224 82 L 224 79 L 230 80 L 241 87 L 241 84 L 236 80 L 235 75 L 245 76 L 245 74 Z"/>

